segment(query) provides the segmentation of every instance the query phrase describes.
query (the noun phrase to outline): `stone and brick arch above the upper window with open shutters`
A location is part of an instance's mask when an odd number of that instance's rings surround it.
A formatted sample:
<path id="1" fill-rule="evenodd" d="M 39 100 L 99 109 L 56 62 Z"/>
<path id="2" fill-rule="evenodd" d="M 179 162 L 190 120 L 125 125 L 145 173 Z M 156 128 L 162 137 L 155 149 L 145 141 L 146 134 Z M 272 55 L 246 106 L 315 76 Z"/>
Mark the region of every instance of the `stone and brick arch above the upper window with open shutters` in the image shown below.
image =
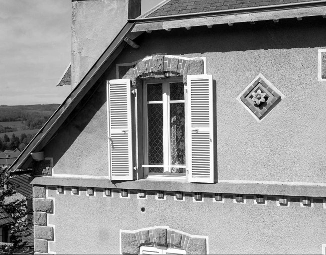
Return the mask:
<path id="1" fill-rule="evenodd" d="M 137 86 L 142 79 L 183 76 L 187 82 L 189 74 L 204 74 L 202 58 L 186 58 L 172 55 L 153 55 L 133 64 L 119 65 L 118 79 L 130 79 Z"/>

